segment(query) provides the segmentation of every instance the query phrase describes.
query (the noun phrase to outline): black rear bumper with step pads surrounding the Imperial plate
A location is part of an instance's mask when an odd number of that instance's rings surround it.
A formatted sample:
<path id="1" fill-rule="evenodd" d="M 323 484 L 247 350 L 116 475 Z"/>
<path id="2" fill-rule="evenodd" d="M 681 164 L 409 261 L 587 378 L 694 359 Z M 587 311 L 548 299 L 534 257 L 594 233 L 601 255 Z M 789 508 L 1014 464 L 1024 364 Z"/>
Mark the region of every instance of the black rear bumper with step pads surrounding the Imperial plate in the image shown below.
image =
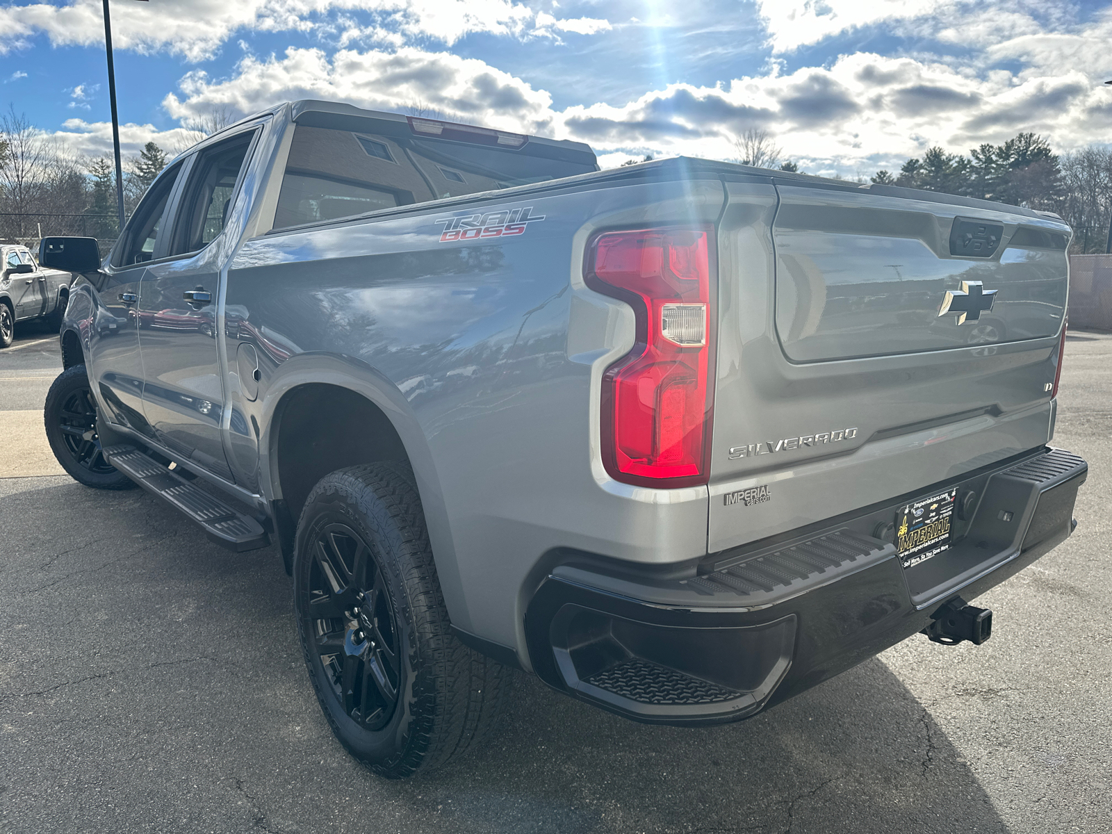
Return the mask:
<path id="1" fill-rule="evenodd" d="M 1039 449 L 665 575 L 569 552 L 526 613 L 534 669 L 549 685 L 637 721 L 737 721 L 922 631 L 1073 530 L 1084 460 Z M 874 537 L 912 498 L 975 493 L 953 546 L 904 569 Z"/>

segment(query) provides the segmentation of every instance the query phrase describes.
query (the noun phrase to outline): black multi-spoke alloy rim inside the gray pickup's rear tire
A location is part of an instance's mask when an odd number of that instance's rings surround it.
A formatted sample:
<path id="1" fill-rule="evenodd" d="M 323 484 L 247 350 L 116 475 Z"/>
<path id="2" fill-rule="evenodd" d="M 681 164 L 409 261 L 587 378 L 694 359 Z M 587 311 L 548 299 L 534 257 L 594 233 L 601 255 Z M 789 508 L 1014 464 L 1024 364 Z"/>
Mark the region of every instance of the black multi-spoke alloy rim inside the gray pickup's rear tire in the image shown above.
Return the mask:
<path id="1" fill-rule="evenodd" d="M 308 612 L 312 649 L 344 713 L 380 729 L 398 705 L 398 627 L 383 569 L 346 524 L 319 529 L 311 545 Z"/>

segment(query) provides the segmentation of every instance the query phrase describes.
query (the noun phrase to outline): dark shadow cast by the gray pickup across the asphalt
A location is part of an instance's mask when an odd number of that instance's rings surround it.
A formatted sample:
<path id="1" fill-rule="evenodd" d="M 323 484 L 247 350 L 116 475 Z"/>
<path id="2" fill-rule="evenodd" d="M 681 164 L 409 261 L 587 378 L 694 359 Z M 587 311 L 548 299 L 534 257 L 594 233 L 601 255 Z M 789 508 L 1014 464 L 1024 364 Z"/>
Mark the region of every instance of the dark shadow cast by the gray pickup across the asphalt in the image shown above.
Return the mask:
<path id="1" fill-rule="evenodd" d="M 516 674 L 483 751 L 379 780 L 319 714 L 272 548 L 64 478 L 0 480 L 0 831 L 1007 831 L 876 659 L 688 729 Z"/>

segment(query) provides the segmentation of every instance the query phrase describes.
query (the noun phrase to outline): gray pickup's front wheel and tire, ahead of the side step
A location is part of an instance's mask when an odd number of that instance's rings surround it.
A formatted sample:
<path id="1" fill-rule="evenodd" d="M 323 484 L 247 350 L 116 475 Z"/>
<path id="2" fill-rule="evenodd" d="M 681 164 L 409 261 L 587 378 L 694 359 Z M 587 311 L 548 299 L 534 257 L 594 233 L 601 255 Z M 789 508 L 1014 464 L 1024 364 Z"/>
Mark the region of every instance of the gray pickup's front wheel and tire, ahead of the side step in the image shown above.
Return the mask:
<path id="1" fill-rule="evenodd" d="M 47 393 L 42 409 L 50 449 L 79 484 L 95 489 L 128 489 L 135 483 L 101 454 L 97 434 L 97 398 L 83 365 L 63 370 Z"/>

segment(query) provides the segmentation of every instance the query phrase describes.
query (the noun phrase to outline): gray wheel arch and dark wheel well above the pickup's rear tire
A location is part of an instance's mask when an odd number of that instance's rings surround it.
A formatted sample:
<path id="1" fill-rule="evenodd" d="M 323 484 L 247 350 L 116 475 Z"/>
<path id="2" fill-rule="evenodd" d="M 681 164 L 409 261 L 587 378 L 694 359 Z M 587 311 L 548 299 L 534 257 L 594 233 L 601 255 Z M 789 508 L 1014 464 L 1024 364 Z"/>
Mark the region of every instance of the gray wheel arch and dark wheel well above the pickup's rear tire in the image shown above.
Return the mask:
<path id="1" fill-rule="evenodd" d="M 463 590 L 444 494 L 424 429 L 405 395 L 366 363 L 321 354 L 286 360 L 266 386 L 259 396 L 260 475 L 287 569 L 292 549 L 286 540 L 291 543 L 305 498 L 321 477 L 358 464 L 405 459 L 414 473 L 448 612 L 458 610 Z"/>

